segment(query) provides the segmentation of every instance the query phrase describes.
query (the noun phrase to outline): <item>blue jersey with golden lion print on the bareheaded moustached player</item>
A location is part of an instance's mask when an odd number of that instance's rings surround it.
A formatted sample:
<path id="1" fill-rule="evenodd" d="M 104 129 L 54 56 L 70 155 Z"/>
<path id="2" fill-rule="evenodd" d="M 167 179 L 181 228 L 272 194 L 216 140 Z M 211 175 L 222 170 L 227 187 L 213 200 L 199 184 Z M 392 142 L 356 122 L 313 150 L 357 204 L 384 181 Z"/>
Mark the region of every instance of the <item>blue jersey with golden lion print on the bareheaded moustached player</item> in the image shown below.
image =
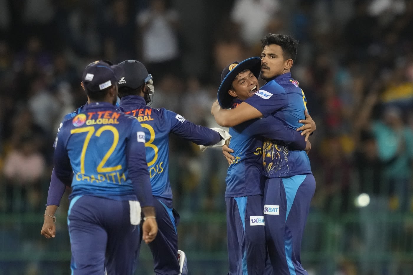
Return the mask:
<path id="1" fill-rule="evenodd" d="M 275 120 L 297 129 L 305 119 L 304 110 L 307 100 L 298 81 L 291 78 L 291 73 L 284 73 L 268 81 L 246 103 L 259 110 L 264 117 L 272 116 Z M 305 151 L 291 150 L 285 142 L 276 138 L 265 138 L 263 144 L 263 175 L 267 178 L 290 177 L 311 174 L 310 160 Z"/>

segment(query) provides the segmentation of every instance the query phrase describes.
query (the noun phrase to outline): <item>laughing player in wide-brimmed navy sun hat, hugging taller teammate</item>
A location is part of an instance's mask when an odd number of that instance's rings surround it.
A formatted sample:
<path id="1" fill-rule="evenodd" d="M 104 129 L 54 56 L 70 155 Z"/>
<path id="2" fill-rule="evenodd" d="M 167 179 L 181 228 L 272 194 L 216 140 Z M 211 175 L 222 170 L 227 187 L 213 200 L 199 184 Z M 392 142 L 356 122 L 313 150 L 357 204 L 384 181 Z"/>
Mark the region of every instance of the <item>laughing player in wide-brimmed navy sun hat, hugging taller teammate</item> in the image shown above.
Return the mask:
<path id="1" fill-rule="evenodd" d="M 252 57 L 226 66 L 221 74 L 218 102 L 224 109 L 236 108 L 257 92 L 261 58 Z M 263 217 L 263 136 L 282 140 L 290 149 L 304 150 L 309 142 L 296 130 L 272 117 L 241 123 L 229 130 L 233 161 L 225 179 L 229 275 L 273 275 L 266 267 Z"/>

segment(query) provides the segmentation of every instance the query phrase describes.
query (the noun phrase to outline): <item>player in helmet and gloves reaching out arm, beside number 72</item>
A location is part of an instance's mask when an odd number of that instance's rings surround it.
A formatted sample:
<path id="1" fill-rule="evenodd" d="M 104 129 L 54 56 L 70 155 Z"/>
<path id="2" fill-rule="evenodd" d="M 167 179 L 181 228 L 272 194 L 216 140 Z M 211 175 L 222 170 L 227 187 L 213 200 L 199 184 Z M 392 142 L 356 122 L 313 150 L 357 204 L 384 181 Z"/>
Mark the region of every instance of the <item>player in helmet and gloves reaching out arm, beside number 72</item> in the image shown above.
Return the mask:
<path id="1" fill-rule="evenodd" d="M 179 214 L 173 209 L 169 183 L 169 134 L 205 146 L 222 146 L 230 135 L 220 128 L 212 130 L 195 125 L 173 111 L 147 106 L 154 93 L 152 76 L 136 60 L 126 60 L 119 66 L 124 71 L 118 83 L 121 99 L 119 110 L 134 116 L 141 123 L 146 136 L 147 166 L 159 226 L 157 238 L 149 244 L 154 258 L 154 271 L 157 275 L 186 275 L 185 254 L 178 251 L 176 226 Z"/>

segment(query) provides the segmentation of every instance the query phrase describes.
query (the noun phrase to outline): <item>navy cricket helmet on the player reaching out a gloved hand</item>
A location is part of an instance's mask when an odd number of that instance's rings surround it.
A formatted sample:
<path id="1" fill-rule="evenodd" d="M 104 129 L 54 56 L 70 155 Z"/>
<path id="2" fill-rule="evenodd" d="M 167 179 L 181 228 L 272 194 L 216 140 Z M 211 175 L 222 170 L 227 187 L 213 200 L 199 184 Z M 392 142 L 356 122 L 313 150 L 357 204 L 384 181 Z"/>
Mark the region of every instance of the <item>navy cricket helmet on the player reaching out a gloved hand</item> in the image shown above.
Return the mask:
<path id="1" fill-rule="evenodd" d="M 119 88 L 127 87 L 136 90 L 145 83 L 145 79 L 149 76 L 145 65 L 137 60 L 125 60 L 118 66 L 123 69 L 123 75 L 118 82 Z"/>

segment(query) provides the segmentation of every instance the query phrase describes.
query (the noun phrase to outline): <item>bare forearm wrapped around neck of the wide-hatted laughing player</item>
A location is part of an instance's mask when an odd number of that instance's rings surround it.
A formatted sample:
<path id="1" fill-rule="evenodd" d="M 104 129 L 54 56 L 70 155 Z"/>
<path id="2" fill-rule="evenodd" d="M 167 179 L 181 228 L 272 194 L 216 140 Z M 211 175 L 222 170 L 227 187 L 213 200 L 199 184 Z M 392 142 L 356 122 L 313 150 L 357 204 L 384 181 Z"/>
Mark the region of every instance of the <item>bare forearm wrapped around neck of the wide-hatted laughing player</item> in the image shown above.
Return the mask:
<path id="1" fill-rule="evenodd" d="M 233 127 L 242 122 L 262 117 L 261 112 L 248 103 L 242 102 L 237 108 L 227 110 L 219 106 L 218 100 L 212 104 L 211 114 L 216 123 L 223 127 Z"/>

